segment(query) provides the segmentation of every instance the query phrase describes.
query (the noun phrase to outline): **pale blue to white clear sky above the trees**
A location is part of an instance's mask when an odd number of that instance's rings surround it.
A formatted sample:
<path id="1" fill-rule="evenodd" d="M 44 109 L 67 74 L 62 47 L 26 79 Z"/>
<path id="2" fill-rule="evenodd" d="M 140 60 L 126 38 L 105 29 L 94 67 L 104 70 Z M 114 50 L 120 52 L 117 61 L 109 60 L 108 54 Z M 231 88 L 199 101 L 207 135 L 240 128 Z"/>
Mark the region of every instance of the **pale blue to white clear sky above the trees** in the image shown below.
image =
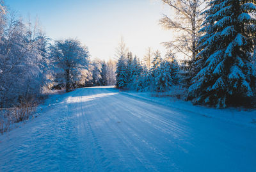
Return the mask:
<path id="1" fill-rule="evenodd" d="M 115 57 L 121 37 L 133 54 L 143 58 L 147 47 L 165 49 L 161 42 L 172 39 L 172 31 L 159 26 L 159 19 L 172 15 L 160 0 L 5 0 L 19 17 L 40 20 L 53 40 L 77 38 L 92 58 Z"/>

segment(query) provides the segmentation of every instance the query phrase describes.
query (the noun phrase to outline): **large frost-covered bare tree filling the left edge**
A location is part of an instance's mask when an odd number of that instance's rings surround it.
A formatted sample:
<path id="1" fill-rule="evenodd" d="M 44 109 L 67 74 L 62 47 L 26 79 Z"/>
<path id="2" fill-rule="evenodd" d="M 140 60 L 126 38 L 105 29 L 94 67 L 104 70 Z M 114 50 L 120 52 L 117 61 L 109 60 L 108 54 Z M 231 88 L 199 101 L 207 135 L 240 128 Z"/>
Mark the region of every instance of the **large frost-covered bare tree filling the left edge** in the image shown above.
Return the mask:
<path id="1" fill-rule="evenodd" d="M 29 27 L 22 20 L 4 15 L 4 32 L 0 33 L 0 106 L 19 106 L 42 93 L 47 80 L 47 39 L 38 33 L 36 25 L 30 37 Z"/>

